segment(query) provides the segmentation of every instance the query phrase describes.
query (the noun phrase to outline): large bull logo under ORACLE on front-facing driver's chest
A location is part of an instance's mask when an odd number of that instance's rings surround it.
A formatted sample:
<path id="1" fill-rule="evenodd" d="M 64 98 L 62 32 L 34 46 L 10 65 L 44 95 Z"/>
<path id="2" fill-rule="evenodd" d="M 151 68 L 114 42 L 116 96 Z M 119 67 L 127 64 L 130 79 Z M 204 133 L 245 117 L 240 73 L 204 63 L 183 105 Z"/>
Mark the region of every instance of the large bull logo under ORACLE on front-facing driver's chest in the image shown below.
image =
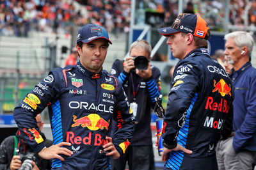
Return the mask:
<path id="1" fill-rule="evenodd" d="M 106 128 L 108 130 L 110 120 L 106 121 L 103 118 L 100 118 L 98 114 L 88 114 L 88 116 L 83 116 L 82 118 L 77 119 L 77 116 L 73 115 L 74 123 L 71 127 L 87 127 L 90 130 L 103 130 Z"/>

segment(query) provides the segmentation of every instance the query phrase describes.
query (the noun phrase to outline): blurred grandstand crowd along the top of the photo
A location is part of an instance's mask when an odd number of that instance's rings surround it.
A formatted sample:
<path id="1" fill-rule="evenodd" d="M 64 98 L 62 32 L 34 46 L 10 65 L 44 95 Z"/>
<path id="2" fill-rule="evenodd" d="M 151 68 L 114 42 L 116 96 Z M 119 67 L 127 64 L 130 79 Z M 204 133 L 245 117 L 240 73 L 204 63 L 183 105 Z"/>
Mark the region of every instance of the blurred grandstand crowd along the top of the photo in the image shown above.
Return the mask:
<path id="1" fill-rule="evenodd" d="M 202 15 L 212 30 L 223 31 L 225 1 L 191 2 L 193 12 Z M 170 26 L 178 15 L 178 0 L 141 0 L 136 3 L 137 8 L 143 6 L 143 9 L 164 13 L 166 26 Z M 87 22 L 104 26 L 113 33 L 128 32 L 130 16 L 131 0 L 2 0 L 0 35 L 28 36 L 29 30 L 68 34 L 72 26 L 83 26 Z M 230 0 L 229 17 L 232 25 L 256 26 L 256 2 Z"/>

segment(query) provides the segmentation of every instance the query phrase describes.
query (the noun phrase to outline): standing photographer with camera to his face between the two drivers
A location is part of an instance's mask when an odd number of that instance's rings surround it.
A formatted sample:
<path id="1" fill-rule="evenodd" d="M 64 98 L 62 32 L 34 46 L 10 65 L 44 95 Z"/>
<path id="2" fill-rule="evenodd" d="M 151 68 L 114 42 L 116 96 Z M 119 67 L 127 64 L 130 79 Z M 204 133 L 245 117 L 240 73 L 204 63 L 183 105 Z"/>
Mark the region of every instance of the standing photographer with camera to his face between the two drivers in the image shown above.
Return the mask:
<path id="1" fill-rule="evenodd" d="M 127 153 L 111 160 L 113 169 L 154 169 L 152 134 L 150 129 L 151 111 L 161 94 L 160 70 L 150 65 L 152 47 L 145 40 L 131 44 L 129 57 L 125 61 L 116 60 L 111 73 L 122 81 L 130 107 L 136 118 L 136 125 Z"/>

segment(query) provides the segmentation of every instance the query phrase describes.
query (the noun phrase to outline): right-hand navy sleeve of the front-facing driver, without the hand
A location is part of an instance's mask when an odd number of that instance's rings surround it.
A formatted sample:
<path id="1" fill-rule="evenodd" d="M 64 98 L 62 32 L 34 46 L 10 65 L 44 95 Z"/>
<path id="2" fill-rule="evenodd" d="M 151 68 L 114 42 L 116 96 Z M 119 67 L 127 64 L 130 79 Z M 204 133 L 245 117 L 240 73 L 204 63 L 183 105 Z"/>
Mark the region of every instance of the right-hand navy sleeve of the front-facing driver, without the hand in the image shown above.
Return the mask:
<path id="1" fill-rule="evenodd" d="M 120 155 L 125 153 L 125 150 L 131 143 L 134 130 L 134 117 L 130 110 L 130 105 L 125 95 L 122 84 L 118 81 L 118 90 L 116 94 L 117 103 L 113 119 L 116 121 L 116 132 L 113 139 L 113 144 Z"/>

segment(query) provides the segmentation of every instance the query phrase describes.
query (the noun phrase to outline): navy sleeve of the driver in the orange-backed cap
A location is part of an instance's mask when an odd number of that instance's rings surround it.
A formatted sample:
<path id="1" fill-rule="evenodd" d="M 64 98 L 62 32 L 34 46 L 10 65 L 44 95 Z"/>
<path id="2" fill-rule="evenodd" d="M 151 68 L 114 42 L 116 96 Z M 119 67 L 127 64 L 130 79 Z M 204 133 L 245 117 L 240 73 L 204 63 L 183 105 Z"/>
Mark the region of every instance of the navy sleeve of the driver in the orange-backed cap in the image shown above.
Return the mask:
<path id="1" fill-rule="evenodd" d="M 198 95 L 200 76 L 199 66 L 188 61 L 180 61 L 174 71 L 163 126 L 164 144 L 170 146 L 169 149 L 177 147 L 179 120 L 186 116 L 192 100 L 195 101 Z"/>

